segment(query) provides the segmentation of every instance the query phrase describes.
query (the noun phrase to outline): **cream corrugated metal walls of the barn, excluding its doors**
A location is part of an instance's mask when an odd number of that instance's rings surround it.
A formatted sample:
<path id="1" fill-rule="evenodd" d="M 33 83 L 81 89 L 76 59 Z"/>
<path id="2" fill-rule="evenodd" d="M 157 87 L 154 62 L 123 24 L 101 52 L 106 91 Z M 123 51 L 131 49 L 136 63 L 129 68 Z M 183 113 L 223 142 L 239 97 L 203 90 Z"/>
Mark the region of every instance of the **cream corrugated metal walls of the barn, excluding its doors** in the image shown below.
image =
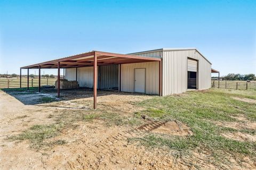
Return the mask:
<path id="1" fill-rule="evenodd" d="M 162 62 L 162 90 L 163 96 L 180 94 L 187 91 L 187 58 L 198 60 L 198 89 L 211 87 L 211 64 L 195 49 L 189 50 L 164 50 L 161 52 L 148 52 L 133 54 L 148 57 L 161 57 Z M 159 63 L 135 63 L 122 64 L 121 69 L 121 90 L 134 91 L 134 69 L 146 68 L 146 94 L 159 94 Z M 118 87 L 118 72 L 115 70 L 118 65 L 102 67 L 99 78 L 100 88 Z M 111 73 L 112 72 L 112 73 Z M 113 75 L 111 75 L 113 74 Z M 109 77 L 108 77 L 109 76 Z M 110 78 L 111 77 L 111 78 Z M 66 78 L 75 80 L 76 70 L 67 69 Z M 112 80 L 111 80 L 112 79 Z M 117 81 L 116 81 L 117 80 Z M 81 87 L 93 87 L 93 67 L 78 68 L 78 82 Z M 112 83 L 112 84 L 111 84 Z"/>

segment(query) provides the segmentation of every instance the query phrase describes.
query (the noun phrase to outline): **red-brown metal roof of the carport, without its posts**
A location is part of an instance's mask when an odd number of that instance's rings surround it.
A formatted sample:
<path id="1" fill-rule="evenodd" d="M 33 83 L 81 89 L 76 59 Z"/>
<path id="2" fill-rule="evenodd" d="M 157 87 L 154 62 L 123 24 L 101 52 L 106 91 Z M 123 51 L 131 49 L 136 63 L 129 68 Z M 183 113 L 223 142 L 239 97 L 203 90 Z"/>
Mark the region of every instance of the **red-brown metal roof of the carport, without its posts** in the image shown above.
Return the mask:
<path id="1" fill-rule="evenodd" d="M 41 66 L 41 69 L 57 69 L 58 62 L 60 62 L 60 68 L 62 69 L 93 66 L 94 54 L 97 55 L 97 63 L 98 63 L 97 65 L 129 64 L 129 63 L 161 61 L 161 58 L 155 58 L 155 57 L 142 57 L 142 56 L 135 56 L 135 55 L 92 51 L 92 52 L 78 54 L 78 55 L 69 56 L 65 58 L 59 58 L 57 60 L 24 66 L 24 67 L 21 67 L 21 69 L 38 69 L 39 66 Z"/>

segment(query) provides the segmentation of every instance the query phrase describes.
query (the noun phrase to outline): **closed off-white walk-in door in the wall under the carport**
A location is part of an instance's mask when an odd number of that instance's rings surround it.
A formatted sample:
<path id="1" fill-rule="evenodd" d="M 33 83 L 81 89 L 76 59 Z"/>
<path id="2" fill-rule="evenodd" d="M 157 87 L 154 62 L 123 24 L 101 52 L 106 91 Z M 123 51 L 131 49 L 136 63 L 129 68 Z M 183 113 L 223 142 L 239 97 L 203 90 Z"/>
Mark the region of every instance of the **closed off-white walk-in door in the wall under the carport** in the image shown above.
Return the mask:
<path id="1" fill-rule="evenodd" d="M 146 69 L 134 69 L 134 92 L 145 93 Z"/>

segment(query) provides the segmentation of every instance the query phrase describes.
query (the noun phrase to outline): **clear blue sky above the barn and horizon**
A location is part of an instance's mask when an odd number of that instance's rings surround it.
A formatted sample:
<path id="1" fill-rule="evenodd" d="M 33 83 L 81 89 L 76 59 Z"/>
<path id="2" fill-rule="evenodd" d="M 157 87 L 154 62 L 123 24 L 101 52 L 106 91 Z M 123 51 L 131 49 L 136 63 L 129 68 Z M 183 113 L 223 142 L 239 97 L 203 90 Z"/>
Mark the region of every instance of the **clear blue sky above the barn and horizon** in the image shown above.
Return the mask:
<path id="1" fill-rule="evenodd" d="M 91 50 L 183 47 L 221 75 L 256 74 L 256 1 L 0 1 L 0 73 Z"/>

